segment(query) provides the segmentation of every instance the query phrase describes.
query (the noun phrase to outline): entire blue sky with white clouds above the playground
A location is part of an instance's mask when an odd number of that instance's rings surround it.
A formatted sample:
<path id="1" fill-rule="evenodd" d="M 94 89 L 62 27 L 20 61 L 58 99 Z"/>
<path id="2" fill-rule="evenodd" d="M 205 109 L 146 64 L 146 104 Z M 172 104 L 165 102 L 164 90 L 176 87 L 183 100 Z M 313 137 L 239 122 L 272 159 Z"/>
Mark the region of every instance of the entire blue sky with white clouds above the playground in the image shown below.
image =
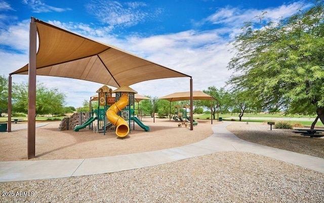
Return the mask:
<path id="1" fill-rule="evenodd" d="M 245 21 L 262 12 L 279 20 L 309 1 L 224 0 L 0 0 L 0 75 L 28 63 L 29 22 L 33 16 L 63 29 L 131 52 L 191 75 L 194 90 L 224 87 L 231 72 L 228 42 Z M 13 75 L 13 82 L 27 82 Z M 79 107 L 102 84 L 37 76 L 48 88 L 66 95 L 66 105 Z M 158 79 L 132 85 L 141 95 L 161 97 L 189 91 L 188 78 Z M 113 88 L 115 89 L 115 88 Z"/>

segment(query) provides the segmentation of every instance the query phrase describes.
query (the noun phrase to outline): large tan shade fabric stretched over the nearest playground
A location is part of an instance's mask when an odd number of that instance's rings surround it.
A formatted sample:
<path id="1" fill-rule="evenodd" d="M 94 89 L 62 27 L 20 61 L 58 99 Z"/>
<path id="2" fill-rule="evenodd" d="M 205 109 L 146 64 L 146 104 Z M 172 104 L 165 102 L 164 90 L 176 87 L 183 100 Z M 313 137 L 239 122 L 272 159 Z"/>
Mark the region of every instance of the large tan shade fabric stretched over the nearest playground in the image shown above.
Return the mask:
<path id="1" fill-rule="evenodd" d="M 112 87 L 151 79 L 191 77 L 118 48 L 36 20 L 36 74 L 88 80 Z M 28 74 L 28 64 L 11 74 Z"/>

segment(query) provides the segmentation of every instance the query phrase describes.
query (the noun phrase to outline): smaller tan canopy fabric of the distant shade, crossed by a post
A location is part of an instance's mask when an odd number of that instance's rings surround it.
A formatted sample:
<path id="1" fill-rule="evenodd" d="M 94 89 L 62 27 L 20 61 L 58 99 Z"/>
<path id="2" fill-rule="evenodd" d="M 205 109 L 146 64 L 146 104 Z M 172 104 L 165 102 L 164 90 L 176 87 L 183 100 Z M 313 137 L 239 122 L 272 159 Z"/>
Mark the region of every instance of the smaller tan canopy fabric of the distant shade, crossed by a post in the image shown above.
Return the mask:
<path id="1" fill-rule="evenodd" d="M 170 102 L 190 100 L 190 92 L 176 92 L 170 95 L 160 97 L 158 99 L 166 99 Z M 214 99 L 212 96 L 204 92 L 193 91 L 193 100 L 216 100 L 216 99 Z"/>

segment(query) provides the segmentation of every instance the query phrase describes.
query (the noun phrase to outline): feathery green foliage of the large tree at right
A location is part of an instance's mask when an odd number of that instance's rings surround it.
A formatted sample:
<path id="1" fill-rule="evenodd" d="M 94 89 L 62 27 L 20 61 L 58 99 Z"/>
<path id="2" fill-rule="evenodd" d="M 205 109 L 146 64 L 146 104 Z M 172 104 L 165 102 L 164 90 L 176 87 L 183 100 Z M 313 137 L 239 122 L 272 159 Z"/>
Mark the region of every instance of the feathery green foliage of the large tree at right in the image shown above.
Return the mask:
<path id="1" fill-rule="evenodd" d="M 255 107 L 284 108 L 287 113 L 314 114 L 324 124 L 324 3 L 279 22 L 248 22 L 232 44 L 235 70 L 228 84 L 247 91 Z M 317 119 L 315 119 L 316 121 Z M 313 128 L 313 127 L 312 127 Z"/>

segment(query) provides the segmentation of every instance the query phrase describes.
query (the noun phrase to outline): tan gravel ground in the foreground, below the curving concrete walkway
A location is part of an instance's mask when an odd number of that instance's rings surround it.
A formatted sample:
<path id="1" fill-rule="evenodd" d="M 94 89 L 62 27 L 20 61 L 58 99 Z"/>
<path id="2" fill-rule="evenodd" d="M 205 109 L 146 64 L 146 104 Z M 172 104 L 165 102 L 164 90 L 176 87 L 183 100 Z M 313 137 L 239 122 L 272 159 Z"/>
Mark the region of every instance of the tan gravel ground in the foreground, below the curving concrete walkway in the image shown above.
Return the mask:
<path id="1" fill-rule="evenodd" d="M 0 188 L 18 194 L 2 196 L 1 202 L 323 202 L 324 174 L 261 155 L 219 152 L 110 174 L 1 183 Z"/>

